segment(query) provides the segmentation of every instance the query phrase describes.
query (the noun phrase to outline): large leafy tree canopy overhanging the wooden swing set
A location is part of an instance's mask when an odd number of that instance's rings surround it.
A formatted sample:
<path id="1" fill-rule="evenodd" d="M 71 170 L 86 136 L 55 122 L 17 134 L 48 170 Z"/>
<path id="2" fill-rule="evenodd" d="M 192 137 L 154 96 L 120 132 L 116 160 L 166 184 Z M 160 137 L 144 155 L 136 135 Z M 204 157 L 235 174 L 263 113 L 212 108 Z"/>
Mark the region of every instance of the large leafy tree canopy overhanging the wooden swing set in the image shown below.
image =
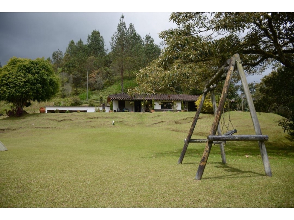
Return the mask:
<path id="1" fill-rule="evenodd" d="M 170 20 L 178 28 L 160 33 L 163 53 L 138 75 L 140 84 L 153 85 L 153 90 L 202 89 L 235 53 L 247 73 L 274 62 L 293 67 L 294 13 L 172 13 Z"/>

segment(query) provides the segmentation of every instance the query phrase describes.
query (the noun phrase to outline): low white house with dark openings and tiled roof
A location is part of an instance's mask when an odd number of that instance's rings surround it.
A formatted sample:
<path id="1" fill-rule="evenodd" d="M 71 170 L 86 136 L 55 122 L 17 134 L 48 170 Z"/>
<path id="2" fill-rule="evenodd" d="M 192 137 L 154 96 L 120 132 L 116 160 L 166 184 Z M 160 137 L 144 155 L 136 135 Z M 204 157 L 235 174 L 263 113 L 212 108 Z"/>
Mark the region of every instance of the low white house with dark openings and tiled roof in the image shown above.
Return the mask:
<path id="1" fill-rule="evenodd" d="M 181 102 L 183 101 L 184 109 L 187 111 L 196 111 L 195 101 L 197 101 L 199 95 L 184 95 L 184 94 L 151 94 L 151 95 L 139 95 L 136 94 L 134 97 L 130 97 L 127 93 L 119 93 L 109 95 L 107 102 L 113 103 L 114 111 L 122 111 L 126 109 L 133 112 L 142 112 L 143 108 L 141 102 L 147 103 L 146 111 L 150 111 L 150 105 L 154 100 L 155 111 L 172 111 L 172 102 L 175 101 L 177 104 L 177 111 L 181 111 Z"/>

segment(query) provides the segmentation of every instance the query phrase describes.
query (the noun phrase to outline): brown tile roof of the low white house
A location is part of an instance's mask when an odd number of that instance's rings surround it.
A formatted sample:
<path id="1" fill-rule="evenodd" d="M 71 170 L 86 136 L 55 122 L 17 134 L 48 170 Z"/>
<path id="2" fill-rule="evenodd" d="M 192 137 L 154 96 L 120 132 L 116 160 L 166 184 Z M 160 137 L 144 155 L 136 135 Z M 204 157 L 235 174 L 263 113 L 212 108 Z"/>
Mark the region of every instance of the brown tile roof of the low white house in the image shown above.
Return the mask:
<path id="1" fill-rule="evenodd" d="M 127 93 L 119 93 L 109 95 L 107 102 L 111 100 L 160 100 L 160 101 L 191 101 L 195 102 L 198 100 L 199 95 L 184 95 L 184 94 L 151 94 L 151 95 L 135 95 L 130 97 Z"/>

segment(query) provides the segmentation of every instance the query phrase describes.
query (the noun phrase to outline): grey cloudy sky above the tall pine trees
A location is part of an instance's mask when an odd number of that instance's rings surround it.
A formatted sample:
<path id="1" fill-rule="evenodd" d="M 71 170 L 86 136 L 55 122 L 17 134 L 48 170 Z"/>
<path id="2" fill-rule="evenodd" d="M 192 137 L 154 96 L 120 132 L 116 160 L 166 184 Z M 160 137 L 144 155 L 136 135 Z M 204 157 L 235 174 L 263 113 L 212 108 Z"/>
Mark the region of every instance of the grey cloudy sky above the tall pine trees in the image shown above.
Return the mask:
<path id="1" fill-rule="evenodd" d="M 13 56 L 35 59 L 51 57 L 57 49 L 65 52 L 70 40 L 83 40 L 92 30 L 100 31 L 105 49 L 116 31 L 122 13 L 0 13 L 0 61 Z M 151 35 L 157 44 L 158 33 L 175 27 L 170 13 L 124 13 L 126 25 L 133 23 L 144 37 Z"/>

